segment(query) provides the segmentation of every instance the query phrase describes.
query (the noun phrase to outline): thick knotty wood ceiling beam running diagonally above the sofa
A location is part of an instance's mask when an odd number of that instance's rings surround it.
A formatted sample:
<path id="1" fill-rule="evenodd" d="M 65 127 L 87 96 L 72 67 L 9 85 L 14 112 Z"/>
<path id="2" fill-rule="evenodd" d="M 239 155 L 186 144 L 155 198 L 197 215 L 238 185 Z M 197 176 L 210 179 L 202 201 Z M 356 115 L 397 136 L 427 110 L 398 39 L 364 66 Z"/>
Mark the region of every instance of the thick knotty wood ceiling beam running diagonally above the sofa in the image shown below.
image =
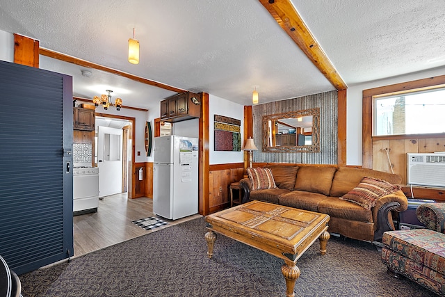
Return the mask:
<path id="1" fill-rule="evenodd" d="M 291 0 L 259 0 L 306 56 L 337 90 L 348 88 L 309 31 Z"/>

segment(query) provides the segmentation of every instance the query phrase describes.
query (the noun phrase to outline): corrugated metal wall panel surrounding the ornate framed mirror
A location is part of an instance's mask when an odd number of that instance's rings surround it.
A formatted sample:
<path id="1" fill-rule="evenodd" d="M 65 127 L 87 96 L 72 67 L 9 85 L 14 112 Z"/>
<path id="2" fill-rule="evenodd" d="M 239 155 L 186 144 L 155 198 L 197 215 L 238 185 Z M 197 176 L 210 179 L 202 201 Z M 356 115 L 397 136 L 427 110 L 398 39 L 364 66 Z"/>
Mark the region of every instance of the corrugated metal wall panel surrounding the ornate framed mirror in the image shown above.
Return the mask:
<path id="1" fill-rule="evenodd" d="M 253 106 L 254 162 L 337 164 L 337 90 Z M 264 115 L 320 108 L 320 152 L 263 152 Z"/>

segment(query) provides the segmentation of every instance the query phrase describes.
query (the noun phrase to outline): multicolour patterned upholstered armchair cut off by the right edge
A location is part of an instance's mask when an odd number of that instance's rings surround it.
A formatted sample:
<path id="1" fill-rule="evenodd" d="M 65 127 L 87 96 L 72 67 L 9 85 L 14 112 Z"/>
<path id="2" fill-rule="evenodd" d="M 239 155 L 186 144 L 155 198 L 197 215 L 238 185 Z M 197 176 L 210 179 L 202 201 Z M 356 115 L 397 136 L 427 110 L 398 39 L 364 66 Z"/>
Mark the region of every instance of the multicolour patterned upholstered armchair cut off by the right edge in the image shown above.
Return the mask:
<path id="1" fill-rule="evenodd" d="M 421 204 L 416 215 L 426 229 L 385 232 L 382 262 L 389 275 L 403 275 L 445 296 L 445 203 Z"/>

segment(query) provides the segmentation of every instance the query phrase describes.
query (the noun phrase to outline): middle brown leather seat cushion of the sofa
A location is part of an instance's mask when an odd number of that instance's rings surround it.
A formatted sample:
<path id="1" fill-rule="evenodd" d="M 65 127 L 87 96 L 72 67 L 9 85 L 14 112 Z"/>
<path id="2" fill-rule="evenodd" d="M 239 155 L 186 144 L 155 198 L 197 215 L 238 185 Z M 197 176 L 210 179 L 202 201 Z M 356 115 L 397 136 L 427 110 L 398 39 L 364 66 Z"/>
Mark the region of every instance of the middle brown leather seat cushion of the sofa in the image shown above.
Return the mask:
<path id="1" fill-rule="evenodd" d="M 318 204 L 325 199 L 326 196 L 319 193 L 291 191 L 291 193 L 280 195 L 278 202 L 286 207 L 317 211 Z"/>

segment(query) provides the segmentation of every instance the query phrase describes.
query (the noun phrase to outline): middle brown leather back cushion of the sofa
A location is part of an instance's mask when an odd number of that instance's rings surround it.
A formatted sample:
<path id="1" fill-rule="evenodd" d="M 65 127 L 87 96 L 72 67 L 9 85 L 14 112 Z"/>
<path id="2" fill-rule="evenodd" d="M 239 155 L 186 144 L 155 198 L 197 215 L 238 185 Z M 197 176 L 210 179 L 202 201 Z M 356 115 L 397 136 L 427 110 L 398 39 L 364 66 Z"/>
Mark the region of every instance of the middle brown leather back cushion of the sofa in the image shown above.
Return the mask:
<path id="1" fill-rule="evenodd" d="M 335 170 L 335 167 L 302 166 L 293 189 L 329 195 Z"/>

